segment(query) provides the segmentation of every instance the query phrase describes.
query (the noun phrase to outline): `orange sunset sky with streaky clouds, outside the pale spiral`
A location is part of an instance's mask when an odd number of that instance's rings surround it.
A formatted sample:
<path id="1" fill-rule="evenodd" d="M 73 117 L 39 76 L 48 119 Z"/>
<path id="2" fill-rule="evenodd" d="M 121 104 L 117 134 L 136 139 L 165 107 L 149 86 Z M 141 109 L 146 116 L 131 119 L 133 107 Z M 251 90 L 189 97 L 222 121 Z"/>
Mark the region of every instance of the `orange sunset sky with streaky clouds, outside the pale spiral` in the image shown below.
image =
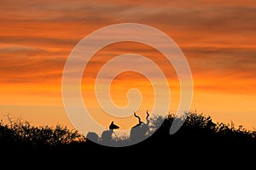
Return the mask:
<path id="1" fill-rule="evenodd" d="M 69 54 L 91 32 L 128 22 L 165 32 L 182 50 L 193 76 L 191 111 L 212 116 L 215 122 L 253 129 L 255 20 L 253 0 L 0 0 L 0 118 L 6 120 L 9 115 L 35 125 L 73 128 L 61 97 L 62 71 Z M 170 112 L 177 109 L 177 75 L 162 54 L 137 42 L 111 44 L 93 56 L 81 84 L 84 103 L 104 126 L 110 119 L 99 114 L 92 94 L 95 77 L 108 59 L 127 53 L 147 56 L 160 66 L 172 91 Z M 141 90 L 143 105 L 137 112 L 143 116 L 154 102 L 147 77 L 135 72 L 120 74 L 112 82 L 113 101 L 127 105 L 125 95 L 130 88 Z M 123 126 L 128 128 L 137 120 L 130 116 L 125 122 L 130 122 Z"/>

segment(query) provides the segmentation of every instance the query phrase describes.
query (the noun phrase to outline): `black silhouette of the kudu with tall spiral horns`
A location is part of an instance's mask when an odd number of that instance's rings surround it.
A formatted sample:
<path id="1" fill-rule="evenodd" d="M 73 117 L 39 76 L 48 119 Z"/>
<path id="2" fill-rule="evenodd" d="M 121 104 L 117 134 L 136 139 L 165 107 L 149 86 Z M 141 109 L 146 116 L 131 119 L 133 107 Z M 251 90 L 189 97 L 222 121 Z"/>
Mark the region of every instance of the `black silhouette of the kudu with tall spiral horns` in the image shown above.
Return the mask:
<path id="1" fill-rule="evenodd" d="M 145 139 L 147 133 L 149 132 L 148 111 L 147 111 L 147 117 L 146 117 L 147 122 L 146 123 L 141 121 L 141 118 L 136 115 L 136 112 L 134 112 L 134 116 L 137 117 L 138 124 L 134 127 L 131 127 L 130 140 L 132 143 L 143 141 L 143 139 Z"/>

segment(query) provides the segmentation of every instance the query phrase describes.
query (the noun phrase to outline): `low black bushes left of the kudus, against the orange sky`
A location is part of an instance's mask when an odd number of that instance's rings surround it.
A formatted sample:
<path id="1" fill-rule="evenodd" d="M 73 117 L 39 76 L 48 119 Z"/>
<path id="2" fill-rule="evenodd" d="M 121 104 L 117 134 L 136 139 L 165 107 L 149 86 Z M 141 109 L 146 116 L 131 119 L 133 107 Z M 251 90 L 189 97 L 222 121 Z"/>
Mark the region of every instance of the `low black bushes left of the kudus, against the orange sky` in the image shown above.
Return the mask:
<path id="1" fill-rule="evenodd" d="M 9 118 L 9 124 L 0 122 L 0 148 L 2 149 L 58 149 L 67 144 L 83 142 L 84 136 L 67 127 L 35 127 L 29 122 Z"/>

